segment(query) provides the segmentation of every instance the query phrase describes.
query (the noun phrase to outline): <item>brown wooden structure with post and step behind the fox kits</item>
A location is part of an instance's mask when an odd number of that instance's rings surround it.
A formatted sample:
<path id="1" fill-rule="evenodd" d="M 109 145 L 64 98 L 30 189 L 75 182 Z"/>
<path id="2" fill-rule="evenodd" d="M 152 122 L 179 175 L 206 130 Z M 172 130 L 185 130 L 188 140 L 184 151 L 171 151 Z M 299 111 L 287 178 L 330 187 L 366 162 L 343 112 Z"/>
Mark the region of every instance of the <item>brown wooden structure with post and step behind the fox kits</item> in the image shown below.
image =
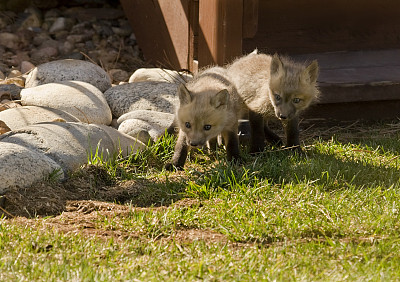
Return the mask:
<path id="1" fill-rule="evenodd" d="M 397 0 L 121 0 L 150 62 L 223 65 L 257 48 L 317 59 L 322 97 L 306 116 L 400 116 Z"/>

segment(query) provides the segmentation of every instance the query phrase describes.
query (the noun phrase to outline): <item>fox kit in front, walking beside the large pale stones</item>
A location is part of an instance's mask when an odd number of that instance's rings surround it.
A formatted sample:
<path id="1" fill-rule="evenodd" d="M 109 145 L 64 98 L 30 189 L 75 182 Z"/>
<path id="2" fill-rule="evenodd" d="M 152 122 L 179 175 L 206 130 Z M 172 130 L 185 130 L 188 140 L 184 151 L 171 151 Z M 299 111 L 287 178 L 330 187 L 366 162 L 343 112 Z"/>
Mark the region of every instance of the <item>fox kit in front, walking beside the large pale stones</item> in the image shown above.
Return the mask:
<path id="1" fill-rule="evenodd" d="M 190 147 L 206 145 L 219 134 L 225 142 L 227 159 L 239 159 L 238 117 L 240 98 L 226 69 L 212 67 L 178 88 L 179 108 L 174 123 L 179 127 L 172 166 L 182 168 Z"/>

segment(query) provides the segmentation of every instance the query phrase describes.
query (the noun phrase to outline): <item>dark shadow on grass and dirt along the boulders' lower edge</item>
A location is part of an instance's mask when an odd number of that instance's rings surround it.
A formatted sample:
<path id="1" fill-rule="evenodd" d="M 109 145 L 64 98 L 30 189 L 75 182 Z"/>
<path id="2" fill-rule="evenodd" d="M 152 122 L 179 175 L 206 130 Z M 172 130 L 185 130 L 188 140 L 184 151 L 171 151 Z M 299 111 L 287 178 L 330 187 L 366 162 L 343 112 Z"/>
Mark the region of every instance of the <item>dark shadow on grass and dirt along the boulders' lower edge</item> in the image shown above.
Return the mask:
<path id="1" fill-rule="evenodd" d="M 185 189 L 178 177 L 135 178 L 121 183 L 110 179 L 99 166 L 87 166 L 64 183 L 43 181 L 13 189 L 3 198 L 0 217 L 57 216 L 76 201 L 100 201 L 134 207 L 168 206 L 182 198 Z M 76 205 L 76 203 L 74 203 Z"/>

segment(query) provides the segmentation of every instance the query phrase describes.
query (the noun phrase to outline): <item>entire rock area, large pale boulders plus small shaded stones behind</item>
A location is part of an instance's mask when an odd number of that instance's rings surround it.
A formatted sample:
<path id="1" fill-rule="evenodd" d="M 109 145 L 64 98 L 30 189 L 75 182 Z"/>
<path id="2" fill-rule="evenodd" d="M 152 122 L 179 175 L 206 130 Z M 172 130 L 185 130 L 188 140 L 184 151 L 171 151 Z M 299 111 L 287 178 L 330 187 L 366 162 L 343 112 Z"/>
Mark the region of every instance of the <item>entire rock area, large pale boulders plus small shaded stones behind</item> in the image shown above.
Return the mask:
<path id="1" fill-rule="evenodd" d="M 125 19 L 112 9 L 105 25 L 85 20 L 90 10 L 81 8 L 49 10 L 43 21 L 29 11 L 30 24 L 0 33 L 0 194 L 49 175 L 65 179 L 96 156 L 143 149 L 171 124 L 177 85 L 190 79 L 161 69 L 135 72 L 137 64 L 128 69 L 132 56 L 140 61 L 136 45 L 124 45 L 134 36 L 128 25 L 113 25 Z"/>

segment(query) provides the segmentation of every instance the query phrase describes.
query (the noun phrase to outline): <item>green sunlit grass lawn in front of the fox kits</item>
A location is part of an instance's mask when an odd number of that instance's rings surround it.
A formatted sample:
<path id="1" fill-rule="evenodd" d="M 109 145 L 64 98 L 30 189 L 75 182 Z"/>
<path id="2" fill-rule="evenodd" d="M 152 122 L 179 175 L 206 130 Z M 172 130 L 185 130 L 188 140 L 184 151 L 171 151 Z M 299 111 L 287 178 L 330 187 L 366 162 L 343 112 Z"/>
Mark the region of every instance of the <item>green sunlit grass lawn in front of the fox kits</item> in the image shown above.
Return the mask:
<path id="1" fill-rule="evenodd" d="M 302 155 L 244 153 L 240 166 L 223 150 L 192 153 L 183 172 L 162 167 L 172 137 L 126 159 L 89 158 L 110 185 L 142 181 L 145 207 L 0 219 L 0 280 L 397 281 L 396 126 L 305 138 Z"/>

